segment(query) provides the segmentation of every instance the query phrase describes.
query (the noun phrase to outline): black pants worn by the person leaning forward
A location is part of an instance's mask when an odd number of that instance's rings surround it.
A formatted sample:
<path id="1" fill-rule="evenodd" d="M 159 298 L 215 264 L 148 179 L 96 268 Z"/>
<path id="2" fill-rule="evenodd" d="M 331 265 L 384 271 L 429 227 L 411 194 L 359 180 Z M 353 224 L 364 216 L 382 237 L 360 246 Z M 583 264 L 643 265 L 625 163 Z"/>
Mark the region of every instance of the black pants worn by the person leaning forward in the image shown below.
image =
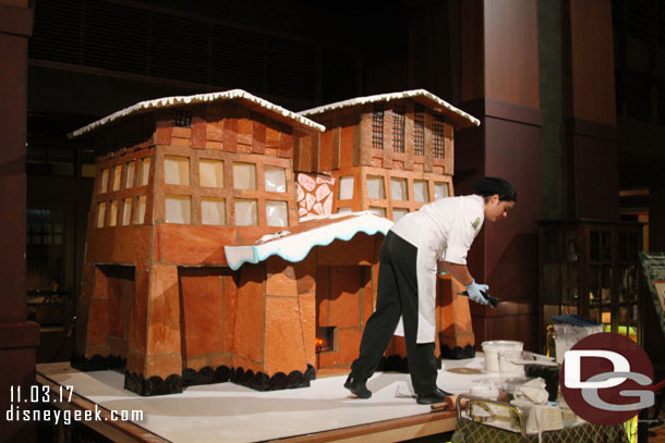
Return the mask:
<path id="1" fill-rule="evenodd" d="M 436 389 L 434 343 L 418 344 L 418 248 L 388 232 L 379 253 L 376 310 L 365 324 L 360 356 L 351 365 L 351 376 L 366 380 L 376 370 L 390 342 L 400 315 L 403 319 L 409 373 L 416 394 Z"/>

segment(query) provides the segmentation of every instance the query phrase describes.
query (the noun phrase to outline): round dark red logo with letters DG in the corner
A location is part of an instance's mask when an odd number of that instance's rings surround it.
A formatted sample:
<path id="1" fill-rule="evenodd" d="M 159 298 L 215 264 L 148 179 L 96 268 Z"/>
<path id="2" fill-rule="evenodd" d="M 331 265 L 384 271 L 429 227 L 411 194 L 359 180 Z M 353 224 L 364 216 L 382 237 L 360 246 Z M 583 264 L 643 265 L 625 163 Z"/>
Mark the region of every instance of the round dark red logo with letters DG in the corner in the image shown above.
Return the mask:
<path id="1" fill-rule="evenodd" d="M 653 366 L 632 340 L 601 332 L 580 340 L 564 357 L 561 394 L 578 416 L 618 424 L 653 406 Z"/>

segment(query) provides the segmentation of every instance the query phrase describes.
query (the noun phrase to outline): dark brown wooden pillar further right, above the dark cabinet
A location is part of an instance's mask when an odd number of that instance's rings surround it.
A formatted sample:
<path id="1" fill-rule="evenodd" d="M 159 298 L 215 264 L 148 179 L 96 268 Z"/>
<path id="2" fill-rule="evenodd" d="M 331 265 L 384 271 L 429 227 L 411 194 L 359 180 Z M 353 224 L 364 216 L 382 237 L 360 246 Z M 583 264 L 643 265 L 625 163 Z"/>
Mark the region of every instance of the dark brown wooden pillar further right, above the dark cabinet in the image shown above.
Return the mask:
<path id="1" fill-rule="evenodd" d="M 619 220 L 612 4 L 564 2 L 568 218 Z"/>

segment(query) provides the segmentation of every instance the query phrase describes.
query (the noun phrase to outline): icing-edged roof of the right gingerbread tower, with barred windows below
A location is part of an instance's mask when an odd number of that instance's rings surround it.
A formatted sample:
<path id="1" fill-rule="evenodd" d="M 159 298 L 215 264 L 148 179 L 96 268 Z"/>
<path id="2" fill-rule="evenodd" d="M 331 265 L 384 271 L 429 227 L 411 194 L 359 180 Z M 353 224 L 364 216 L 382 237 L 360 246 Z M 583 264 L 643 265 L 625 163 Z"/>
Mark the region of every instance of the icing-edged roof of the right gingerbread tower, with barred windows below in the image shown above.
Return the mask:
<path id="1" fill-rule="evenodd" d="M 434 94 L 432 94 L 425 89 L 412 89 L 412 90 L 404 90 L 401 93 L 379 94 L 379 95 L 367 96 L 367 97 L 356 97 L 356 98 L 352 98 L 349 100 L 338 101 L 336 103 L 325 104 L 325 106 L 322 106 L 318 108 L 307 109 L 305 111 L 301 111 L 300 114 L 305 115 L 305 116 L 313 116 L 313 115 L 323 114 L 323 113 L 330 112 L 330 111 L 337 111 L 337 110 L 344 109 L 344 108 L 351 108 L 351 107 L 355 107 L 355 106 L 360 106 L 360 104 L 377 103 L 377 102 L 382 102 L 382 101 L 388 102 L 388 101 L 395 101 L 395 100 L 402 100 L 402 99 L 407 99 L 407 98 L 412 99 L 430 109 L 433 109 L 436 112 L 443 113 L 450 120 L 450 122 L 456 127 L 480 126 L 480 124 L 481 124 L 480 120 L 477 120 L 473 115 L 470 115 L 467 112 L 462 111 L 461 109 L 454 107 L 452 104 L 448 103 L 447 101 L 440 99 L 439 97 L 435 96 Z"/>

